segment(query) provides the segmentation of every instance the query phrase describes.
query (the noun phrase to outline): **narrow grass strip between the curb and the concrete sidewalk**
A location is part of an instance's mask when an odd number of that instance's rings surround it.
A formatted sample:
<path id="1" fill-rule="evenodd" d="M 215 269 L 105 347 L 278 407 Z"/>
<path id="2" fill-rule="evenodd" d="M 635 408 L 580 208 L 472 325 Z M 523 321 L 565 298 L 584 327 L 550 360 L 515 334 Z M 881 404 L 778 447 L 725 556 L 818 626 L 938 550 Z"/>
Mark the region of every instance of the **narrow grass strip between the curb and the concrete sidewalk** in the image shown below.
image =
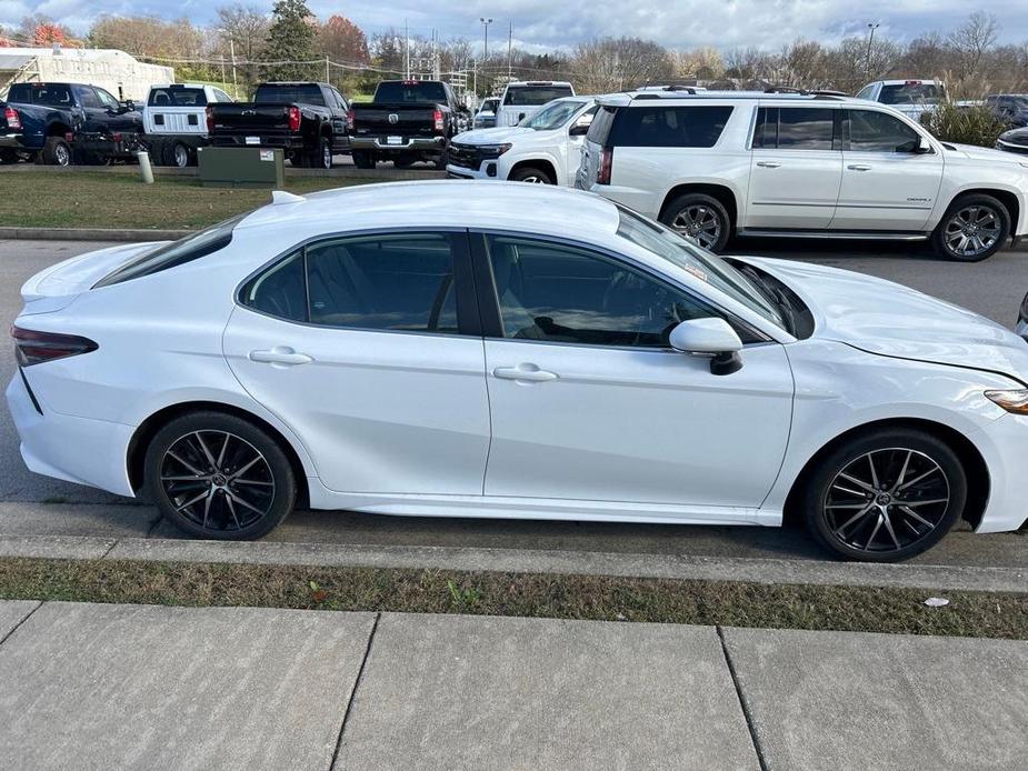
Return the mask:
<path id="1" fill-rule="evenodd" d="M 1028 594 L 596 575 L 0 559 L 0 599 L 472 613 L 1028 639 Z"/>

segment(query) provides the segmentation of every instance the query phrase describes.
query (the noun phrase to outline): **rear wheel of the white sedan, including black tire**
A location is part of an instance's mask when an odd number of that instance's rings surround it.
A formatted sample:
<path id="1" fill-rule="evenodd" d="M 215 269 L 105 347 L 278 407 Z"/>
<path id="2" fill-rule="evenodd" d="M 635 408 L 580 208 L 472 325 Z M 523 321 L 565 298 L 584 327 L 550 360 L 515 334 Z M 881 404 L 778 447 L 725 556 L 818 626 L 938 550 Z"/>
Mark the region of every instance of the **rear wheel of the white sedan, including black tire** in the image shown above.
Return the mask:
<path id="1" fill-rule="evenodd" d="M 194 537 L 260 538 L 296 503 L 296 474 L 282 448 L 236 415 L 204 411 L 176 418 L 150 441 L 143 463 L 160 512 Z"/>

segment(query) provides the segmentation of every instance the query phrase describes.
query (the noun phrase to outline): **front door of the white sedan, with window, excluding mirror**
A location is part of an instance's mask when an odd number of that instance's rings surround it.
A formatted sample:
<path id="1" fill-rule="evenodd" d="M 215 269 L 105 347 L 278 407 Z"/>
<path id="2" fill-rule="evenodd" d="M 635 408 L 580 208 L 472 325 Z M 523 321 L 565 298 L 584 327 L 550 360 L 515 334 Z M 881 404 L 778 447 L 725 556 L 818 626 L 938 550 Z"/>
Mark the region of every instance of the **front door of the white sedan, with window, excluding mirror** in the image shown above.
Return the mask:
<path id="1" fill-rule="evenodd" d="M 496 319 L 487 495 L 691 504 L 728 521 L 760 505 L 791 419 L 781 346 L 753 344 L 741 370 L 712 374 L 709 359 L 667 342 L 676 322 L 716 313 L 700 299 L 577 244 L 476 243 L 483 319 Z"/>

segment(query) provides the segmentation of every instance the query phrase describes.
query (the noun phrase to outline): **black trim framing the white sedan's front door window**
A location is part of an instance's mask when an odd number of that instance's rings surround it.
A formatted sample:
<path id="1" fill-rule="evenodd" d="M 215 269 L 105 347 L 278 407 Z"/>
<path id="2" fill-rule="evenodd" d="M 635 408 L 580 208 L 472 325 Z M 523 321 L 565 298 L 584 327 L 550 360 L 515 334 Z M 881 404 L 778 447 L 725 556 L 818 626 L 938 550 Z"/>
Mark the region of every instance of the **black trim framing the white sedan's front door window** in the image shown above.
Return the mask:
<path id="1" fill-rule="evenodd" d="M 715 313 L 720 314 L 725 318 L 726 321 L 731 323 L 735 327 L 743 329 L 749 334 L 753 337 L 753 340 L 750 342 L 743 342 L 743 348 L 752 348 L 756 346 L 767 346 L 769 343 L 777 343 L 770 336 L 760 331 L 757 327 L 740 319 L 736 313 L 722 308 L 712 299 L 697 294 L 697 292 L 685 284 L 680 284 L 675 281 L 671 277 L 661 273 L 658 270 L 655 270 L 650 266 L 632 259 L 623 253 L 617 252 L 612 249 L 607 249 L 605 247 L 598 246 L 596 243 L 589 243 L 587 241 L 579 241 L 578 239 L 562 238 L 559 236 L 549 236 L 546 233 L 531 233 L 525 232 L 522 230 L 506 230 L 502 228 L 470 228 L 469 233 L 471 236 L 471 266 L 475 273 L 475 283 L 476 292 L 478 296 L 478 308 L 481 316 L 481 327 L 482 327 L 482 337 L 487 340 L 505 340 L 508 342 L 518 342 L 518 343 L 535 343 L 542 346 L 566 346 L 571 348 L 585 348 L 590 350 L 596 350 L 598 348 L 606 350 L 619 350 L 619 351 L 649 351 L 653 353 L 667 353 L 669 351 L 675 353 L 681 353 L 669 347 L 656 347 L 656 346 L 606 346 L 601 343 L 582 343 L 582 342 L 567 342 L 561 340 L 531 340 L 526 338 L 508 338 L 503 336 L 503 322 L 500 313 L 500 300 L 497 296 L 496 290 L 496 279 L 492 274 L 492 266 L 489 260 L 489 251 L 486 247 L 486 238 L 488 236 L 496 237 L 506 237 L 506 238 L 519 238 L 527 241 L 538 241 L 540 243 L 551 243 L 559 247 L 567 247 L 573 249 L 581 249 L 587 252 L 592 252 L 597 257 L 602 257 L 608 260 L 613 260 L 615 262 L 621 262 L 630 267 L 632 270 L 643 273 L 647 278 L 652 279 L 659 283 L 667 286 L 670 289 L 673 289 L 677 292 L 681 292 L 687 296 L 693 302 L 709 307 Z"/>

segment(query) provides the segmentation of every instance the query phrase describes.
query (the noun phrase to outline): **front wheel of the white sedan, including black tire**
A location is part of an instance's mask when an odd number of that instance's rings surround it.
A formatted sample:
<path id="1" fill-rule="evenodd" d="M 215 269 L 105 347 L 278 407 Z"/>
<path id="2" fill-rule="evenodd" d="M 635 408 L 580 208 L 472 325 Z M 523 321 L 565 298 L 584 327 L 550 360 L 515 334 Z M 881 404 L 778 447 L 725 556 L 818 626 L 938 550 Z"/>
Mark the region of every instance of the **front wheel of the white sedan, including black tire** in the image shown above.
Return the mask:
<path id="1" fill-rule="evenodd" d="M 930 549 L 966 502 L 960 459 L 916 429 L 882 429 L 836 448 L 802 498 L 810 533 L 829 551 L 862 562 L 898 562 Z"/>

